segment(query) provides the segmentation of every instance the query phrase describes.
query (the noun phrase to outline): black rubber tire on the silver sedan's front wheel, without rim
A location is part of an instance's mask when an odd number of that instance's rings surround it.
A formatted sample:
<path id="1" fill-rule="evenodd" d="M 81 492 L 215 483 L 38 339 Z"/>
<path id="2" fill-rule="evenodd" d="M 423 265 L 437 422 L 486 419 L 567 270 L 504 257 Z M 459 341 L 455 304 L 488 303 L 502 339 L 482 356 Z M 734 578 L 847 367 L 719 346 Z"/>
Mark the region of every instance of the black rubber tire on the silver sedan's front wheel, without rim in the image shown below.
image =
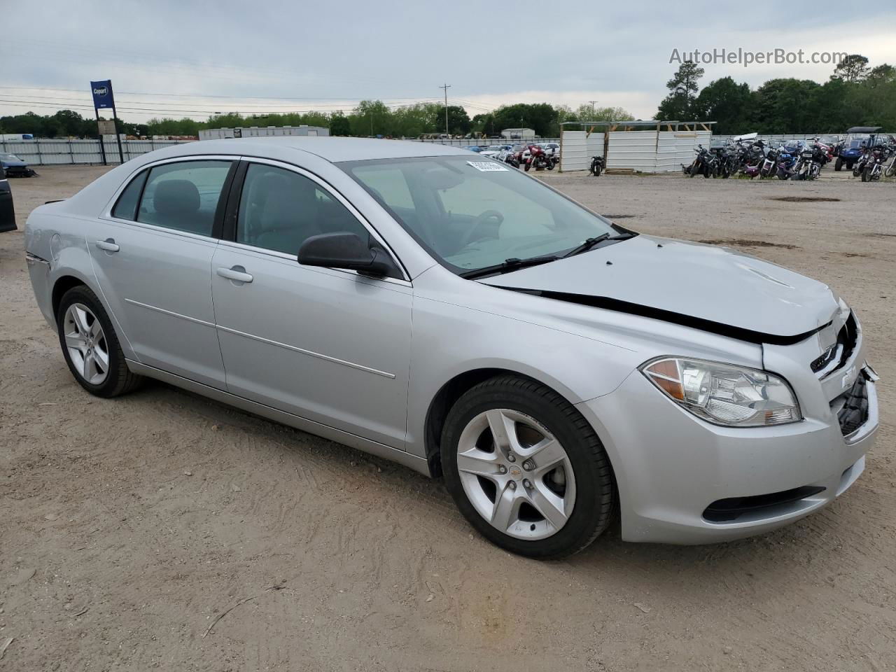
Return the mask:
<path id="1" fill-rule="evenodd" d="M 564 446 L 575 476 L 575 504 L 564 526 L 538 540 L 497 530 L 470 504 L 457 469 L 463 429 L 489 409 L 513 409 L 535 418 Z M 553 560 L 581 551 L 607 529 L 616 498 L 613 472 L 598 435 L 571 403 L 528 378 L 499 375 L 463 394 L 445 419 L 441 444 L 445 485 L 470 524 L 495 545 L 521 556 Z"/>

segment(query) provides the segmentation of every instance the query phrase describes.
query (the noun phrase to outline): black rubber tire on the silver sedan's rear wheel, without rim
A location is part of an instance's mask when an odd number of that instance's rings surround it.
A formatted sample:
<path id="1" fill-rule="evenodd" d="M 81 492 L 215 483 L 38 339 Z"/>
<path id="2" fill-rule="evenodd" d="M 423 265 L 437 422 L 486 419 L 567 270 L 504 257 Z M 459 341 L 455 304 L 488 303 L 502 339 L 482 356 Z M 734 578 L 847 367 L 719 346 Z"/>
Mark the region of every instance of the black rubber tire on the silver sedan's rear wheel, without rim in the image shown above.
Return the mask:
<path id="1" fill-rule="evenodd" d="M 69 306 L 76 303 L 90 308 L 90 311 L 99 320 L 99 324 L 103 329 L 103 336 L 108 349 L 109 366 L 106 379 L 99 384 L 90 383 L 81 375 L 74 366 L 68 348 L 65 346 L 65 332 L 63 331 L 65 311 L 68 310 Z M 65 364 L 68 365 L 74 379 L 90 394 L 104 398 L 117 397 L 119 394 L 133 391 L 142 383 L 143 376 L 134 374 L 128 369 L 125 362 L 125 353 L 122 352 L 121 345 L 118 343 L 118 336 L 112 327 L 108 314 L 106 314 L 106 309 L 99 302 L 97 295 L 90 291 L 90 288 L 79 285 L 65 292 L 62 300 L 59 302 L 59 309 L 56 311 L 56 333 L 59 336 L 59 347 L 62 349 L 63 357 L 65 357 Z"/>

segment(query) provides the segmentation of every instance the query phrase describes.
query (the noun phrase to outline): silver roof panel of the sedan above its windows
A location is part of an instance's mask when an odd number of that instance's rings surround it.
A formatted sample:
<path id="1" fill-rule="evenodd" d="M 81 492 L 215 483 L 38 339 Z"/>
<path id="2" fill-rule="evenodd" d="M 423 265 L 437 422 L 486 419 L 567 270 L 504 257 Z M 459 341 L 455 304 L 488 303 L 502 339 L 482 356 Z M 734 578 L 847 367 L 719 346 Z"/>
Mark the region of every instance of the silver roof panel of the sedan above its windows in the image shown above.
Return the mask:
<path id="1" fill-rule="evenodd" d="M 306 151 L 331 163 L 367 159 L 406 159 L 413 157 L 468 154 L 464 147 L 449 147 L 437 142 L 409 142 L 377 138 L 285 135 L 263 138 L 200 140 L 168 148 L 169 156 L 192 154 L 244 154 L 278 159 L 284 150 Z"/>

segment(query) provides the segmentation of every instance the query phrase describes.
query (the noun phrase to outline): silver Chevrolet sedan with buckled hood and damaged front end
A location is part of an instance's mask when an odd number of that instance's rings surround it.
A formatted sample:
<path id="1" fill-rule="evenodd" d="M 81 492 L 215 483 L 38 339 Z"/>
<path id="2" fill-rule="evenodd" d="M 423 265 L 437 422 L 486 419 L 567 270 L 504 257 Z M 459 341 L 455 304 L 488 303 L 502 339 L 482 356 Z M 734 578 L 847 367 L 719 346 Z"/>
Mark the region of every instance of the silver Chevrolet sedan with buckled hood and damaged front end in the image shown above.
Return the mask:
<path id="1" fill-rule="evenodd" d="M 87 392 L 155 378 L 444 476 L 524 556 L 616 514 L 631 541 L 779 528 L 855 482 L 878 425 L 827 286 L 461 148 L 170 147 L 33 211 L 25 245 Z"/>

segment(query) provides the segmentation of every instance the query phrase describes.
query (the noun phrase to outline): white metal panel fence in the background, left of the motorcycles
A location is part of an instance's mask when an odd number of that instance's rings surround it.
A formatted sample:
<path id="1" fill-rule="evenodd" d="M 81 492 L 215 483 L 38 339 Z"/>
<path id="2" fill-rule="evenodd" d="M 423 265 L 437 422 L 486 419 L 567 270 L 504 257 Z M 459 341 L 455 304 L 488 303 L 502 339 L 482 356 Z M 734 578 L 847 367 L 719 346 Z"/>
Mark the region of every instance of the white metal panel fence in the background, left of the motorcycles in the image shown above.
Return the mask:
<path id="1" fill-rule="evenodd" d="M 591 157 L 600 154 L 609 169 L 666 173 L 694 160 L 694 148 L 708 144 L 710 137 L 709 131 L 564 131 L 560 169 L 587 170 Z"/>

